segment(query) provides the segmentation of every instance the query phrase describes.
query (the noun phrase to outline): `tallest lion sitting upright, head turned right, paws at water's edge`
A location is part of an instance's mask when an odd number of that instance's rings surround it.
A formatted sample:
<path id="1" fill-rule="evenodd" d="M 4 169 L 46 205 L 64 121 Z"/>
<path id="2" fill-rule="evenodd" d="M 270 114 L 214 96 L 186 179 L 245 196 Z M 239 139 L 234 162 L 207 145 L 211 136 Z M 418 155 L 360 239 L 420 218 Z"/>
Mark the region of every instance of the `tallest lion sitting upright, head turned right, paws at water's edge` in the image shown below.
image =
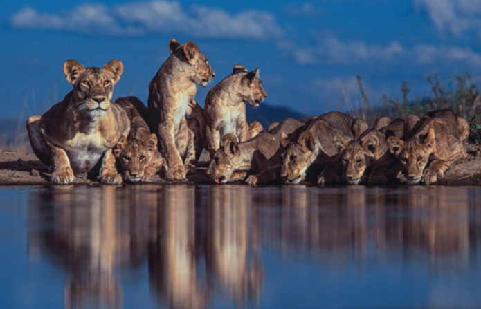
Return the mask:
<path id="1" fill-rule="evenodd" d="M 183 180 L 185 170 L 196 171 L 193 140 L 185 115 L 192 105 L 197 87 L 207 86 L 214 76 L 207 57 L 191 41 L 184 46 L 172 38 L 170 57 L 149 84 L 147 102 L 152 131 L 158 134 L 159 150 L 167 163 L 167 180 Z"/>

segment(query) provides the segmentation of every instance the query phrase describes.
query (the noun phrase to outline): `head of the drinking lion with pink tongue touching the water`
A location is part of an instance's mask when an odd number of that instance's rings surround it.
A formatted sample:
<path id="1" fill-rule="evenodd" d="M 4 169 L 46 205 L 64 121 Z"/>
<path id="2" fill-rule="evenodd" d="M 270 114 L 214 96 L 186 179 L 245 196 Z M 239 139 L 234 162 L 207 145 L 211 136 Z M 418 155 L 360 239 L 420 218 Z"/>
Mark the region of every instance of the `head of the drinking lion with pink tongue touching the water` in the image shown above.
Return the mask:
<path id="1" fill-rule="evenodd" d="M 223 145 L 215 151 L 210 160 L 207 176 L 217 183 L 226 183 L 242 165 L 237 138 L 233 134 L 224 136 Z"/>

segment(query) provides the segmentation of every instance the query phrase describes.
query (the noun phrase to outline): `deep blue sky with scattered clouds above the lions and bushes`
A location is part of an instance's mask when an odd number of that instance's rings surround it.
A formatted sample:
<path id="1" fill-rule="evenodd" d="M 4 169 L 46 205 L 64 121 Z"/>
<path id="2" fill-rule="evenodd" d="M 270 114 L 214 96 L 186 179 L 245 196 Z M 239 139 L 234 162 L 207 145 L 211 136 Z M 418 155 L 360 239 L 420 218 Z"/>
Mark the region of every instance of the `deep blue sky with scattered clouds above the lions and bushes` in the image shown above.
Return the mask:
<path id="1" fill-rule="evenodd" d="M 260 68 L 266 102 L 307 115 L 359 102 L 359 73 L 373 102 L 401 96 L 408 80 L 449 79 L 481 69 L 481 0 L 7 1 L 0 12 L 0 118 L 42 113 L 71 90 L 66 59 L 103 66 L 120 59 L 114 97 L 147 101 L 168 42 L 194 41 L 216 77 L 235 64 Z"/>

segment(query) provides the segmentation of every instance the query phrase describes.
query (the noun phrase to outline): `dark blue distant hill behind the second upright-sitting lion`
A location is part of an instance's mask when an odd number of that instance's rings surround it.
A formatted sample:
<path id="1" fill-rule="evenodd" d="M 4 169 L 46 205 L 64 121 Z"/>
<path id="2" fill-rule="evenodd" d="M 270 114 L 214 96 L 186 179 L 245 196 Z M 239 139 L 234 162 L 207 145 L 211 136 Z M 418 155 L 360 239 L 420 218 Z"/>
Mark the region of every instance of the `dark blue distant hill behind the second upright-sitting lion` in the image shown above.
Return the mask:
<path id="1" fill-rule="evenodd" d="M 282 122 L 286 118 L 296 118 L 299 120 L 307 120 L 309 117 L 302 113 L 298 113 L 286 106 L 272 106 L 269 103 L 261 102 L 259 108 L 253 109 L 246 106 L 247 121 L 257 120 L 262 124 L 264 130 L 273 122 Z"/>

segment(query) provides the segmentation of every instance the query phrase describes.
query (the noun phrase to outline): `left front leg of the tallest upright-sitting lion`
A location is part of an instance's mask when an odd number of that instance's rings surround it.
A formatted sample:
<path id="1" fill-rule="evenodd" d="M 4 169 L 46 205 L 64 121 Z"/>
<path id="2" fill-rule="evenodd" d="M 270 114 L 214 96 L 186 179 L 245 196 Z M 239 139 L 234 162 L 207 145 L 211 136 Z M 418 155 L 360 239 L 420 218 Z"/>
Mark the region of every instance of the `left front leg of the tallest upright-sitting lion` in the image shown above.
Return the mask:
<path id="1" fill-rule="evenodd" d="M 169 181 L 184 180 L 185 169 L 182 164 L 181 155 L 175 147 L 172 131 L 167 129 L 167 127 L 159 126 L 158 140 L 161 144 L 161 155 L 163 156 L 165 162 L 167 162 L 165 178 Z"/>

